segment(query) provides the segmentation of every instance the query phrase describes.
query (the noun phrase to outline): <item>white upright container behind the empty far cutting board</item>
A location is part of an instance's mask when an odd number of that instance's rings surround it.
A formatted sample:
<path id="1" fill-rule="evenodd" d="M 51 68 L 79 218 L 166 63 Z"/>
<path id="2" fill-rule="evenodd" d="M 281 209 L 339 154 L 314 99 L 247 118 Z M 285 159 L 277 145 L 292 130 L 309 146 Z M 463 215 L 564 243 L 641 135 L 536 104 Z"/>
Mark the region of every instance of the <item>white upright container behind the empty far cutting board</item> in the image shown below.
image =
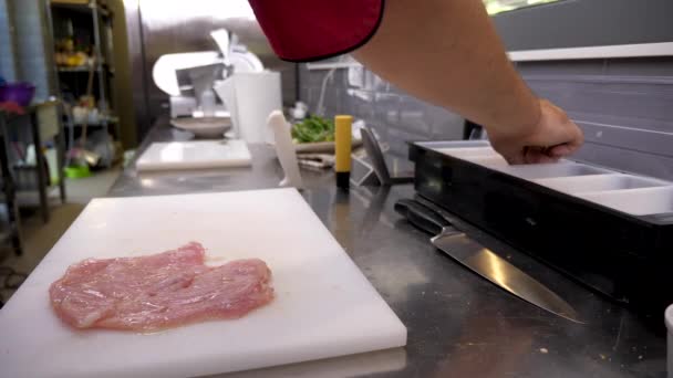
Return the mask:
<path id="1" fill-rule="evenodd" d="M 280 73 L 236 73 L 230 80 L 218 82 L 215 91 L 231 113 L 234 129 L 248 143 L 271 143 L 267 117 L 282 109 Z"/>

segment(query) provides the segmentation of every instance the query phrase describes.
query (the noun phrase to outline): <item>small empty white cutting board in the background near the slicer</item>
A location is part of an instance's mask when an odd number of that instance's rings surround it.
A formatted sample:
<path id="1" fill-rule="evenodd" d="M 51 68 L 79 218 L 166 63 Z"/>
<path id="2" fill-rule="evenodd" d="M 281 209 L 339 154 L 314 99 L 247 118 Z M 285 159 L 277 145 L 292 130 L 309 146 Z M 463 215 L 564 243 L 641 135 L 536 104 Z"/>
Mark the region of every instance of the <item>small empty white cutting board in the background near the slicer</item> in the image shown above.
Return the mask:
<path id="1" fill-rule="evenodd" d="M 136 161 L 138 170 L 247 167 L 250 151 L 244 140 L 153 143 Z"/>

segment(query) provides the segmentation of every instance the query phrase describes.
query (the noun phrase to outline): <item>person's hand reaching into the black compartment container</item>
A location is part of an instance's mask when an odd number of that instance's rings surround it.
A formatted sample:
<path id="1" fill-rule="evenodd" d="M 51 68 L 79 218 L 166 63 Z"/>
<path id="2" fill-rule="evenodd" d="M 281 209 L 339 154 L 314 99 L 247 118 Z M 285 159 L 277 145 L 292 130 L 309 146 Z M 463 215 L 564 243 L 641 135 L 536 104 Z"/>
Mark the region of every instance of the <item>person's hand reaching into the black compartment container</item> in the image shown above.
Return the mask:
<path id="1" fill-rule="evenodd" d="M 584 141 L 582 130 L 563 109 L 547 99 L 539 102 L 540 118 L 527 130 L 488 130 L 493 147 L 509 164 L 556 162 L 577 151 Z"/>

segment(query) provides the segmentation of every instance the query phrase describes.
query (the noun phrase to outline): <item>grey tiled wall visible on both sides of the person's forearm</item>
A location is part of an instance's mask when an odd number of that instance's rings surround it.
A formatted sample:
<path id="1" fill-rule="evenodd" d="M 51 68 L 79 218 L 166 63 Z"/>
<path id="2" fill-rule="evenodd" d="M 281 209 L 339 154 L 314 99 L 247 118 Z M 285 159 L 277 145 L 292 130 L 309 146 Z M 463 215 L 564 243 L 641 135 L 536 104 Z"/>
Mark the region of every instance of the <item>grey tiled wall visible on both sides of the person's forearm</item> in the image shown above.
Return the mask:
<path id="1" fill-rule="evenodd" d="M 540 97 L 563 107 L 584 130 L 577 159 L 673 179 L 673 57 L 518 63 Z M 300 70 L 300 94 L 315 109 L 329 71 Z M 364 70 L 364 90 L 338 70 L 325 90 L 327 115 L 350 113 L 373 125 L 396 154 L 407 140 L 462 137 L 463 118 L 423 103 Z M 355 81 L 356 82 L 356 81 Z"/>

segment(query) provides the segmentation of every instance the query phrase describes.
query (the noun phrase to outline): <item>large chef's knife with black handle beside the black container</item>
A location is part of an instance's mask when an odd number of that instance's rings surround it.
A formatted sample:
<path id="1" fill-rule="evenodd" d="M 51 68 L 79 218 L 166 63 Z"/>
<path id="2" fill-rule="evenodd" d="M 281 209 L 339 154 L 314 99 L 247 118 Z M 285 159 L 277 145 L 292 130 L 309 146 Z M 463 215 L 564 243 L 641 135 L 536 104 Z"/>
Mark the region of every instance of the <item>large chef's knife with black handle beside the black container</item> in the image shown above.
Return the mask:
<path id="1" fill-rule="evenodd" d="M 539 281 L 511 265 L 456 229 L 442 210 L 418 201 L 402 199 L 395 211 L 418 229 L 434 234 L 433 245 L 503 290 L 552 314 L 582 323 L 576 311 Z"/>

